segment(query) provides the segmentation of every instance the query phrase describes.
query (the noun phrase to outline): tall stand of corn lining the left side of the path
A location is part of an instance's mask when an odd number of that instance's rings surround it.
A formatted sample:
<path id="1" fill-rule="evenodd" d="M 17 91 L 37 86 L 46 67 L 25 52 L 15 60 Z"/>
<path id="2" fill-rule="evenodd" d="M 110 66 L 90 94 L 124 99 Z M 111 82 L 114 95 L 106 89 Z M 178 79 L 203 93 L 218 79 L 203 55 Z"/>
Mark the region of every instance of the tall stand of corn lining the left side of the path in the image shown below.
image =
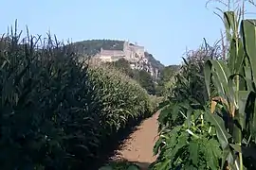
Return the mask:
<path id="1" fill-rule="evenodd" d="M 153 113 L 134 81 L 81 60 L 50 36 L 0 40 L 1 169 L 90 169 L 108 137 Z"/>

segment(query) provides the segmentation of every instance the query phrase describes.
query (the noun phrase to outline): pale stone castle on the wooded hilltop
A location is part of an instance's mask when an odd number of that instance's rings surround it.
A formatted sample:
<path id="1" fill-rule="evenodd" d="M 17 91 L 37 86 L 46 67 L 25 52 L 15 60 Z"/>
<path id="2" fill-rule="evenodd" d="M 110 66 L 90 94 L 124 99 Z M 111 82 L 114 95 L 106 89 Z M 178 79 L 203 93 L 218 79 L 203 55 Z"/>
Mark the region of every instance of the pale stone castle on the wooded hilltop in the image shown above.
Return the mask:
<path id="1" fill-rule="evenodd" d="M 96 54 L 95 58 L 104 62 L 126 59 L 130 62 L 132 69 L 143 69 L 155 77 L 159 74 L 158 69 L 153 68 L 149 60 L 145 57 L 144 46 L 139 46 L 131 42 L 123 42 L 122 50 L 106 50 L 101 48 L 101 51 Z"/>

